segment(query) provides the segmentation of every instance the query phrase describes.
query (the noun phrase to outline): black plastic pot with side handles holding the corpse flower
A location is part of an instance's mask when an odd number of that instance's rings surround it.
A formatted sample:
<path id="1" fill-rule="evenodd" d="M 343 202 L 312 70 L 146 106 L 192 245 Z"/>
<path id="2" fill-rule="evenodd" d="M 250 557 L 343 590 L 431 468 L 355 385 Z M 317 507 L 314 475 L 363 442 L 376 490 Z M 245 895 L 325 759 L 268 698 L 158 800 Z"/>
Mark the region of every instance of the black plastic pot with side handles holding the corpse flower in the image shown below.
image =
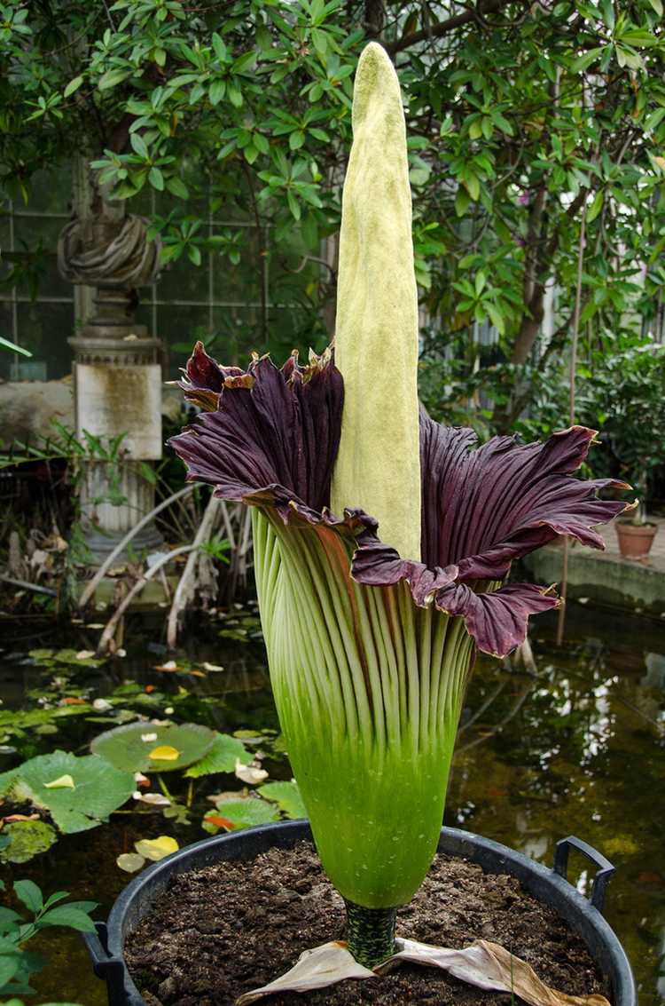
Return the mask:
<path id="1" fill-rule="evenodd" d="M 253 859 L 270 848 L 289 849 L 301 839 L 311 839 L 306 821 L 248 828 L 208 838 L 174 852 L 129 884 L 120 895 L 106 924 L 97 923 L 97 935 L 83 934 L 97 978 L 106 983 L 109 1006 L 145 1006 L 145 999 L 132 981 L 123 951 L 128 936 L 150 912 L 151 905 L 168 887 L 172 877 L 201 869 L 223 859 Z M 587 900 L 566 879 L 571 848 L 579 849 L 598 867 Z M 478 863 L 488 873 L 508 873 L 522 888 L 543 904 L 555 908 L 585 941 L 599 970 L 610 983 L 612 1006 L 637 1006 L 637 991 L 624 950 L 602 915 L 605 889 L 614 866 L 579 838 L 557 843 L 551 869 L 505 845 L 456 828 L 442 828 L 439 851 Z"/>

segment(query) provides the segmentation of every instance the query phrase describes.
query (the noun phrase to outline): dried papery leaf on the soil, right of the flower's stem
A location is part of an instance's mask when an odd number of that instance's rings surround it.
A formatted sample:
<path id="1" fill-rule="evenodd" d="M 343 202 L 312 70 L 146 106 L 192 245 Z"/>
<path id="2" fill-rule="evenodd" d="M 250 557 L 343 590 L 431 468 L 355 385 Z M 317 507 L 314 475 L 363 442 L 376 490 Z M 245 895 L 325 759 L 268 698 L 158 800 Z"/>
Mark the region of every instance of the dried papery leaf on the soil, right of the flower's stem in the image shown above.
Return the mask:
<path id="1" fill-rule="evenodd" d="M 530 1006 L 610 1006 L 605 996 L 569 996 L 541 982 L 530 965 L 498 944 L 476 940 L 464 950 L 431 947 L 415 940 L 397 940 L 399 951 L 377 968 L 381 974 L 398 961 L 443 968 L 479 989 L 519 996 Z"/>

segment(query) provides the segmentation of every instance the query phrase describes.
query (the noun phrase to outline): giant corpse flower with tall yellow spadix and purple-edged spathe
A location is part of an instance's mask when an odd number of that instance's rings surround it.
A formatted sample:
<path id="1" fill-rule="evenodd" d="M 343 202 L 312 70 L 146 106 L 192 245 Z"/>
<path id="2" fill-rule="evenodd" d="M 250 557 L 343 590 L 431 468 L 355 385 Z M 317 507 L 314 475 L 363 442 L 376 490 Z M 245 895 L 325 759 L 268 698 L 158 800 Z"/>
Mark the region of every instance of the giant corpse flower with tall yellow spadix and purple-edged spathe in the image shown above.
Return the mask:
<path id="1" fill-rule="evenodd" d="M 356 77 L 335 356 L 217 364 L 182 382 L 203 409 L 172 441 L 189 480 L 251 506 L 275 702 L 321 863 L 361 970 L 434 856 L 476 650 L 502 657 L 550 592 L 504 584 L 559 534 L 603 547 L 624 509 L 574 478 L 594 432 L 544 444 L 434 423 L 417 396 L 418 301 L 399 82 L 370 44 Z"/>

